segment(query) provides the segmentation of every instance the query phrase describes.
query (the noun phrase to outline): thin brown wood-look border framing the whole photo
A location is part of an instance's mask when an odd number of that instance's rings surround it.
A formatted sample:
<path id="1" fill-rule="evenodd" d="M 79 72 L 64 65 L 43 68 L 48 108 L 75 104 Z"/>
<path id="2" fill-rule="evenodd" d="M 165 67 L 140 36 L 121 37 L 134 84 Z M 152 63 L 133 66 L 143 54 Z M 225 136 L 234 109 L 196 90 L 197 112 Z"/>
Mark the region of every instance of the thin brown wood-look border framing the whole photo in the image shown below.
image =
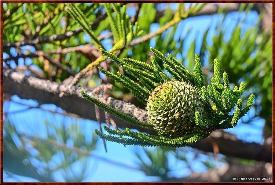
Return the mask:
<path id="1" fill-rule="evenodd" d="M 117 0 L 101 0 L 101 1 L 88 1 L 88 0 L 80 0 L 80 1 L 76 1 L 76 0 L 55 0 L 55 1 L 45 1 L 45 0 L 25 0 L 25 1 L 18 1 L 18 0 L 0 0 L 0 28 L 1 28 L 1 33 L 0 33 L 0 50 L 1 50 L 1 55 L 0 55 L 0 59 L 2 62 L 2 65 L 0 67 L 0 87 L 1 87 L 1 99 L 0 99 L 0 103 L 1 103 L 1 120 L 0 120 L 0 128 L 1 128 L 1 133 L 0 133 L 0 164 L 1 164 L 1 182 L 0 184 L 15 184 L 15 185 L 23 185 L 23 184 L 29 184 L 29 185 L 45 185 L 45 184 L 49 184 L 49 185 L 78 185 L 78 184 L 103 184 L 103 185 L 123 185 L 123 184 L 142 184 L 142 185 L 169 185 L 169 184 L 184 184 L 184 185 L 207 185 L 207 184 L 217 184 L 217 185 L 222 185 L 222 184 L 232 184 L 232 185 L 237 185 L 237 184 L 246 184 L 246 185 L 256 185 L 256 184 L 274 184 L 273 182 L 177 182 L 177 183 L 173 183 L 173 182 L 3 182 L 3 3 L 21 3 L 21 2 L 28 2 L 28 3 L 60 3 L 60 2 L 92 2 L 92 3 L 102 3 L 102 2 L 145 2 L 145 3 L 184 3 L 184 2 L 209 2 L 209 3 L 272 3 L 272 127 L 274 128 L 275 126 L 275 110 L 274 110 L 274 95 L 275 95 L 275 90 L 274 90 L 274 86 L 275 86 L 275 82 L 274 82 L 274 67 L 275 67 L 275 52 L 274 52 L 274 43 L 275 43 L 275 2 L 274 0 L 207 0 L 207 1 L 203 1 L 203 0 L 184 0 L 184 1 L 175 1 L 175 0 L 171 0 L 171 1 L 167 1 L 167 0 L 152 0 L 152 1 L 147 1 L 147 0 L 124 0 L 124 1 L 117 1 Z M 274 172 L 274 150 L 275 150 L 275 131 L 274 129 L 272 129 L 272 172 Z M 274 179 L 274 173 L 272 173 L 272 180 Z"/>

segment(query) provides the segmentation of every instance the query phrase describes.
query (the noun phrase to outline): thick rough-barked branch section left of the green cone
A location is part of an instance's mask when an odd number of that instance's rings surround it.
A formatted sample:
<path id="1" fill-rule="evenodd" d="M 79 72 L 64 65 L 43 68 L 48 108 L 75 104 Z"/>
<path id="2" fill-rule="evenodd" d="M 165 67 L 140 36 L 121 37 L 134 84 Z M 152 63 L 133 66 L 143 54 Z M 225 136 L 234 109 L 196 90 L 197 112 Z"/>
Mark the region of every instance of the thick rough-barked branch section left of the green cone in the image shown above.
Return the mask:
<path id="1" fill-rule="evenodd" d="M 84 90 L 87 94 L 97 98 L 100 101 L 103 101 L 103 96 L 93 94 L 92 90 L 87 88 L 76 86 L 72 86 L 71 89 L 68 90 L 67 88 L 68 85 L 65 84 L 57 84 L 56 82 L 51 82 L 50 80 L 27 76 L 24 72 L 14 72 L 10 69 L 3 69 L 3 92 L 7 92 L 12 95 L 17 94 L 23 99 L 36 99 L 40 104 L 54 103 L 67 112 L 77 114 L 83 118 L 96 120 L 94 105 L 85 100 L 81 96 L 80 91 Z M 59 97 L 59 93 L 64 92 L 65 90 L 66 94 L 63 97 Z M 146 112 L 130 103 L 125 103 L 112 97 L 108 97 L 106 103 L 112 107 L 115 107 L 119 111 L 126 112 L 139 121 L 147 121 Z M 103 118 L 103 122 L 105 122 L 104 115 L 104 111 L 101 110 L 101 118 Z M 129 125 L 116 117 L 112 118 L 116 123 L 119 123 L 119 127 L 121 128 L 132 126 L 131 128 L 139 129 L 142 132 L 147 132 L 145 129 L 141 129 L 134 125 Z M 154 131 L 151 131 L 150 133 L 156 134 Z"/>

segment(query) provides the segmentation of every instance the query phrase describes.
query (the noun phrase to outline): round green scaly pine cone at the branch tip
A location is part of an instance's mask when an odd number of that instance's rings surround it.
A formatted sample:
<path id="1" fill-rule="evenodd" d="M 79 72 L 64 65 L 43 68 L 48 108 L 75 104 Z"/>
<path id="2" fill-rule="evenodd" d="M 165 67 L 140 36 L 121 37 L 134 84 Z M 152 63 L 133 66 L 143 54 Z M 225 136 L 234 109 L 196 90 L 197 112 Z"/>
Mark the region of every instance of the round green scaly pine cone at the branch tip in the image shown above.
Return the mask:
<path id="1" fill-rule="evenodd" d="M 168 136 L 185 135 L 196 128 L 194 115 L 204 108 L 196 88 L 186 82 L 169 81 L 156 87 L 147 100 L 149 123 Z"/>

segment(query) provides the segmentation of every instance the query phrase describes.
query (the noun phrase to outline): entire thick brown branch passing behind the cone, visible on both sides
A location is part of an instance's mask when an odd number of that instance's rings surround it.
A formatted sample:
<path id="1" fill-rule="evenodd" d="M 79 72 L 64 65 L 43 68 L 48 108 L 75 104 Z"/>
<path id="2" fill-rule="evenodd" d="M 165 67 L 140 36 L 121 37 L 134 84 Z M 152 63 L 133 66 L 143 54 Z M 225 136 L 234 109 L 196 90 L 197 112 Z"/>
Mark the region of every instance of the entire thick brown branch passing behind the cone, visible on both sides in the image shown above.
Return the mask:
<path id="1" fill-rule="evenodd" d="M 90 96 L 103 101 L 102 95 L 95 95 L 90 89 L 72 86 L 63 97 L 59 97 L 60 92 L 65 92 L 68 85 L 57 84 L 49 80 L 39 79 L 32 76 L 26 76 L 21 72 L 12 70 L 3 71 L 3 92 L 9 94 L 17 94 L 23 99 L 36 99 L 39 103 L 53 103 L 67 112 L 74 113 L 80 117 L 96 120 L 94 105 L 83 99 L 80 91 L 84 90 Z M 108 97 L 107 105 L 110 105 L 117 110 L 129 114 L 139 121 L 146 122 L 147 114 L 144 110 L 136 107 L 133 104 L 125 103 Z M 105 122 L 104 112 L 101 111 L 102 121 Z M 112 117 L 120 128 L 130 127 L 138 129 L 141 132 L 156 135 L 155 131 L 141 129 L 137 126 L 125 123 L 118 118 Z M 263 145 L 258 143 L 244 143 L 238 140 L 233 134 L 229 134 L 222 130 L 213 132 L 209 137 L 211 141 L 217 143 L 220 154 L 234 156 L 239 158 L 254 159 L 257 161 L 272 161 L 271 140 L 267 140 Z M 208 140 L 200 140 L 191 145 L 203 151 L 213 152 L 212 144 Z"/>

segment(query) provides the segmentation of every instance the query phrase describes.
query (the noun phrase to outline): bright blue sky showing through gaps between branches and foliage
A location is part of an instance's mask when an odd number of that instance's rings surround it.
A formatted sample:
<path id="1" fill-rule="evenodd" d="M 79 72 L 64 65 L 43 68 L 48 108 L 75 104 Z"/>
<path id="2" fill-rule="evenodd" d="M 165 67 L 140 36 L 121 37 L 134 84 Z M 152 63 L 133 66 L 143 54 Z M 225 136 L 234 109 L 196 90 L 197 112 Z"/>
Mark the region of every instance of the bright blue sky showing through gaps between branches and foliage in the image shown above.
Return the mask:
<path id="1" fill-rule="evenodd" d="M 171 6 L 174 8 L 174 4 L 172 4 Z M 133 11 L 134 11 L 133 8 L 129 9 L 128 13 L 133 14 Z M 224 21 L 224 25 L 222 25 L 227 29 L 225 40 L 232 32 L 233 26 L 237 24 L 237 19 L 242 19 L 243 17 L 244 17 L 244 13 L 232 12 L 228 14 L 228 16 Z M 192 18 L 183 20 L 179 23 L 180 24 L 178 27 L 179 30 L 174 35 L 174 38 L 185 36 L 187 30 L 191 29 L 188 34 L 188 37 L 185 39 L 183 47 L 188 48 L 190 43 L 195 38 L 197 38 L 195 53 L 199 53 L 203 33 L 208 27 L 211 27 L 207 36 L 207 41 L 211 44 L 211 37 L 215 34 L 215 30 L 212 28 L 215 27 L 219 19 L 220 19 L 219 16 L 213 15 L 213 16 L 192 17 Z M 242 31 L 244 32 L 245 30 L 251 27 L 254 27 L 253 25 L 255 24 L 255 21 L 257 19 L 258 19 L 257 13 L 255 13 L 254 11 L 249 12 L 244 22 L 245 24 L 243 24 Z M 153 24 L 151 26 L 151 31 L 155 31 L 156 29 L 158 29 L 158 25 Z M 90 38 L 88 36 L 85 36 L 85 39 L 87 39 L 88 41 Z M 150 46 L 153 47 L 154 45 L 155 43 L 153 42 L 153 39 L 152 39 Z M 35 51 L 34 47 L 32 46 L 31 47 L 24 46 L 22 49 L 23 50 L 29 49 L 32 52 Z M 106 47 L 106 49 L 108 49 L 108 47 Z M 186 52 L 187 50 L 183 51 L 183 56 L 187 54 Z M 14 48 L 11 48 L 11 53 L 13 53 L 13 55 L 16 54 L 16 51 Z M 7 58 L 7 57 L 8 57 L 7 54 L 4 53 L 3 58 Z M 23 64 L 23 59 L 19 59 L 18 62 L 19 62 L 19 65 Z M 31 64 L 32 60 L 30 58 L 27 58 L 26 63 Z M 15 63 L 11 63 L 11 66 L 15 67 Z M 35 100 L 22 100 L 16 95 L 12 97 L 12 100 L 20 103 L 25 103 L 31 106 L 37 105 L 37 102 Z M 60 108 L 56 107 L 53 104 L 44 105 L 43 108 L 62 112 Z M 24 109 L 26 109 L 26 106 L 20 105 L 18 103 L 13 103 L 13 102 L 10 102 L 9 105 L 5 104 L 3 107 L 4 112 L 13 112 L 13 111 L 24 110 Z M 252 109 L 250 111 L 250 114 L 253 115 L 254 113 L 255 111 Z M 45 135 L 45 132 L 43 132 L 43 130 L 46 129 L 46 125 L 44 124 L 45 119 L 48 119 L 49 121 L 52 121 L 56 124 L 62 124 L 62 122 L 64 121 L 66 121 L 67 124 L 73 124 L 75 122 L 75 118 L 64 117 L 60 114 L 53 116 L 52 113 L 43 111 L 41 109 L 30 109 L 30 110 L 23 111 L 16 114 L 15 113 L 9 114 L 9 119 L 13 124 L 16 125 L 16 129 L 19 133 L 22 132 L 22 133 L 25 133 L 26 135 L 36 134 L 42 138 L 47 137 Z M 246 119 L 246 117 L 244 117 L 244 119 Z M 95 121 L 79 118 L 77 122 L 81 124 L 83 128 L 85 128 L 84 135 L 86 136 L 91 135 L 94 129 L 98 129 L 98 123 Z M 245 142 L 262 143 L 263 142 L 263 138 L 262 138 L 263 125 L 264 125 L 264 120 L 262 119 L 258 119 L 249 125 L 242 124 L 239 122 L 237 127 L 233 129 L 227 129 L 226 132 L 236 134 L 237 138 L 244 140 Z M 5 134 L 5 131 L 4 131 L 4 134 Z M 18 140 L 18 139 L 14 137 L 14 140 Z M 17 142 L 17 144 L 19 145 L 20 143 Z M 121 164 L 137 167 L 137 164 L 136 164 L 137 158 L 134 156 L 134 151 L 136 151 L 138 148 L 139 147 L 136 147 L 136 146 L 124 147 L 123 145 L 118 143 L 107 142 L 108 152 L 105 153 L 102 140 L 99 140 L 98 148 L 95 151 L 93 151 L 92 154 L 100 156 L 102 158 L 108 158 L 111 161 L 116 161 Z M 154 148 L 151 147 L 151 149 L 153 150 Z M 33 152 L 35 153 L 35 151 Z M 189 155 L 192 156 L 193 155 L 192 152 L 190 152 Z M 204 160 L 204 158 L 206 158 L 206 156 L 200 156 L 199 159 Z M 58 161 L 58 158 L 56 158 L 55 160 Z M 171 157 L 170 162 L 175 163 L 177 161 Z M 221 164 L 222 163 L 217 162 L 217 165 L 221 165 Z M 81 165 L 76 165 L 75 170 L 76 171 L 80 170 L 79 169 L 80 167 Z M 100 182 L 100 181 L 139 182 L 139 181 L 156 180 L 156 178 L 154 177 L 145 176 L 145 174 L 142 171 L 129 169 L 119 165 L 112 165 L 108 162 L 98 160 L 93 157 L 90 157 L 87 159 L 86 168 L 88 169 L 87 172 L 90 173 L 84 180 L 87 182 L 90 182 L 90 181 L 91 182 Z M 201 165 L 200 161 L 194 161 L 193 169 L 198 172 L 206 170 L 206 168 Z M 188 175 L 189 173 L 190 171 L 182 170 L 179 166 L 178 170 L 175 170 L 173 175 L 180 177 L 180 176 Z M 18 179 L 9 178 L 5 172 L 3 173 L 3 177 L 4 177 L 3 178 L 4 182 L 5 181 L 35 181 L 33 179 L 30 179 L 27 177 L 20 177 L 20 176 L 18 176 Z M 64 181 L 64 179 L 62 178 L 62 175 L 60 175 L 60 173 L 58 172 L 54 174 L 54 178 L 56 181 Z"/>

